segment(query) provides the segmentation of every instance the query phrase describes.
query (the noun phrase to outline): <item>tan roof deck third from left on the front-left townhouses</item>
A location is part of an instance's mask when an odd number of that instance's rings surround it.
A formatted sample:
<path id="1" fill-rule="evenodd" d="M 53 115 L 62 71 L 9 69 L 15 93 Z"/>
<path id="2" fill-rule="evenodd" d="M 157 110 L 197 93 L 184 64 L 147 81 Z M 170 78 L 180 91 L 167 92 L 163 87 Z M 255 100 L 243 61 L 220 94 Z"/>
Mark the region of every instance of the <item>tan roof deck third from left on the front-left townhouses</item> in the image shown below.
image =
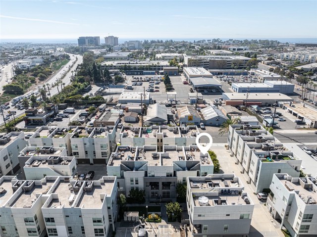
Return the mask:
<path id="1" fill-rule="evenodd" d="M 78 192 L 73 190 L 69 182 L 60 181 L 52 193 L 57 193 L 58 199 L 52 199 L 48 208 L 71 207 Z"/>

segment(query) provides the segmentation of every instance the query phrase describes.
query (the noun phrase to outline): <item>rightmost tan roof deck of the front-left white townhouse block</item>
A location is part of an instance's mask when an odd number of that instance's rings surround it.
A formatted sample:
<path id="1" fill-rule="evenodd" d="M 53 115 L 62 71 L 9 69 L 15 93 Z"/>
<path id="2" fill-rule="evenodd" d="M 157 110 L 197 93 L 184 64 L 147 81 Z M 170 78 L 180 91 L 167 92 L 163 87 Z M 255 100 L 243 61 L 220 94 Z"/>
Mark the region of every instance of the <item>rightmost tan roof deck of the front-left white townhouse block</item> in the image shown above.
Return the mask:
<path id="1" fill-rule="evenodd" d="M 101 185 L 94 185 L 92 191 L 84 192 L 78 201 L 77 207 L 81 208 L 101 208 L 104 199 L 101 194 L 110 195 L 113 189 L 113 181 L 105 181 Z"/>

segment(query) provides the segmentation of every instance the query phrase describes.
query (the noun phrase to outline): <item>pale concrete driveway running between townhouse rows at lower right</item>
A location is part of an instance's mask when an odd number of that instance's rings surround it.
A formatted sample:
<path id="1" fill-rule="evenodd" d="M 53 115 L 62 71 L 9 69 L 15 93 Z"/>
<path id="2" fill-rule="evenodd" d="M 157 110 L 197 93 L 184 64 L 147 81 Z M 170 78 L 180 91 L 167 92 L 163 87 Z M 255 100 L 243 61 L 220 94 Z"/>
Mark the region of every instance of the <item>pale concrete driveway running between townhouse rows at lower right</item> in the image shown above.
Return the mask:
<path id="1" fill-rule="evenodd" d="M 270 216 L 270 213 L 264 206 L 264 202 L 261 202 L 257 196 L 253 194 L 255 190 L 251 185 L 247 184 L 246 178 L 241 174 L 238 165 L 234 163 L 235 160 L 230 156 L 229 151 L 225 149 L 224 145 L 221 146 L 217 144 L 212 144 L 211 149 L 217 154 L 221 170 L 224 173 L 234 173 L 238 176 L 245 187 L 244 190 L 249 193 L 255 204 L 249 237 L 284 237 L 279 229 L 279 225 L 276 224 L 276 221 Z"/>

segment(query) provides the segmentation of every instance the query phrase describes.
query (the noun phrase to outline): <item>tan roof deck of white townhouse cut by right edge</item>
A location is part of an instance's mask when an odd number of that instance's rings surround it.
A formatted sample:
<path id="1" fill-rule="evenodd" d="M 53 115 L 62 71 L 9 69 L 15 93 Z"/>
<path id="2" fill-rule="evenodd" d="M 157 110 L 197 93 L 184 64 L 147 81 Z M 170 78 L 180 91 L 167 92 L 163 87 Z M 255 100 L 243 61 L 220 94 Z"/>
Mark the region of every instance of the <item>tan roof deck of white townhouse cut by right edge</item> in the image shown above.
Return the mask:
<path id="1" fill-rule="evenodd" d="M 315 178 L 293 178 L 292 181 L 287 181 L 284 177 L 280 177 L 279 180 L 287 190 L 298 190 L 298 196 L 306 204 L 317 204 L 317 186 L 312 182 L 316 182 Z"/>

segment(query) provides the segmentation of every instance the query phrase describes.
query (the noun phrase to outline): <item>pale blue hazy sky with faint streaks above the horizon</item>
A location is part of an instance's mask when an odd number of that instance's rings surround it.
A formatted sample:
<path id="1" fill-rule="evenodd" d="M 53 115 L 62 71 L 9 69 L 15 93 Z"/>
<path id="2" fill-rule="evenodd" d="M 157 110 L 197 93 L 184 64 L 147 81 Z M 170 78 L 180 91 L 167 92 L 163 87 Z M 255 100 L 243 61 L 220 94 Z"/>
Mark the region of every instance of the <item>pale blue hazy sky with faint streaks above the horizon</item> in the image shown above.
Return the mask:
<path id="1" fill-rule="evenodd" d="M 316 0 L 0 0 L 0 38 L 317 38 L 316 9 Z"/>

